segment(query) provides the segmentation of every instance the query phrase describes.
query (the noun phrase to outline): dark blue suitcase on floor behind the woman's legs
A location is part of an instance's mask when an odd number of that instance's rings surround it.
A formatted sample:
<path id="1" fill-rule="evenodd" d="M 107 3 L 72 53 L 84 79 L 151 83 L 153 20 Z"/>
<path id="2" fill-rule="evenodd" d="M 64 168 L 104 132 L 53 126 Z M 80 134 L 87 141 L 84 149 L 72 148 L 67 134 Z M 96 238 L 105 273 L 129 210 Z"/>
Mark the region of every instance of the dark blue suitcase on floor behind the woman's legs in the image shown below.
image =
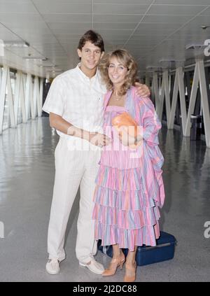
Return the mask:
<path id="1" fill-rule="evenodd" d="M 98 241 L 98 250 L 102 253 L 113 256 L 112 246 L 102 246 L 102 241 Z M 172 234 L 160 232 L 160 238 L 157 239 L 157 246 L 138 246 L 137 248 L 137 265 L 149 265 L 152 263 L 162 262 L 174 258 L 176 239 Z M 128 249 L 123 249 L 125 256 Z"/>

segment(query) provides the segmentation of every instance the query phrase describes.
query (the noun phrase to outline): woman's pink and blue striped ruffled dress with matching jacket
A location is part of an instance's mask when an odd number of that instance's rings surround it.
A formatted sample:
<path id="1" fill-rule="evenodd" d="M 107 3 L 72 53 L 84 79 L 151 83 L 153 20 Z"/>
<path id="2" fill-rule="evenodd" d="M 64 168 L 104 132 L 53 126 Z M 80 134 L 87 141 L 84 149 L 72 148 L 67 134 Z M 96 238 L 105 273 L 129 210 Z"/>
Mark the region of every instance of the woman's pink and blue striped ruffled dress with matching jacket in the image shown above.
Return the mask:
<path id="1" fill-rule="evenodd" d="M 102 152 L 94 191 L 95 239 L 102 246 L 120 248 L 155 246 L 160 236 L 158 220 L 165 199 L 162 183 L 163 157 L 158 148 L 160 120 L 150 99 L 137 97 L 135 87 L 127 92 L 125 107 L 107 106 L 104 100 L 104 133 L 112 139 Z M 143 146 L 136 150 L 120 143 L 111 120 L 128 112 L 143 128 Z"/>

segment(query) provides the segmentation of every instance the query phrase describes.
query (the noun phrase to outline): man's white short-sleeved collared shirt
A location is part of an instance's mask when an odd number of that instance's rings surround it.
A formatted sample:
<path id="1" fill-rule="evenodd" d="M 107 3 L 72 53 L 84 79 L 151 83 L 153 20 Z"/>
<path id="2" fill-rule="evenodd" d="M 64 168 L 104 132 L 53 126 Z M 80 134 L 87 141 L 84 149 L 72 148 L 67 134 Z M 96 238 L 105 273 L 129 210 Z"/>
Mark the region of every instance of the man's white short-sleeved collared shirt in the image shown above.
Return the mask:
<path id="1" fill-rule="evenodd" d="M 88 78 L 79 66 L 80 64 L 52 81 L 42 109 L 62 116 L 76 127 L 99 132 L 102 131 L 106 87 L 98 70 L 94 77 Z M 57 131 L 57 134 L 69 138 L 62 132 Z"/>

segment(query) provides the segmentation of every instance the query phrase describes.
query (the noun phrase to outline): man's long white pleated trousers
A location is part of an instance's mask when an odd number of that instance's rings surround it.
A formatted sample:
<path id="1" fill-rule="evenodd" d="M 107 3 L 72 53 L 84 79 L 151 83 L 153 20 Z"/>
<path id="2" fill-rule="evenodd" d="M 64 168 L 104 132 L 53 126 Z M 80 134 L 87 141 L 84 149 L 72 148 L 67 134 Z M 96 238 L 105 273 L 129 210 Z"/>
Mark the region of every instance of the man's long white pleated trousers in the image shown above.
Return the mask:
<path id="1" fill-rule="evenodd" d="M 55 184 L 48 227 L 49 259 L 64 260 L 66 225 L 80 186 L 80 210 L 76 257 L 84 264 L 97 252 L 92 220 L 95 178 L 99 168 L 100 150 L 69 150 L 68 140 L 60 138 L 55 149 Z"/>

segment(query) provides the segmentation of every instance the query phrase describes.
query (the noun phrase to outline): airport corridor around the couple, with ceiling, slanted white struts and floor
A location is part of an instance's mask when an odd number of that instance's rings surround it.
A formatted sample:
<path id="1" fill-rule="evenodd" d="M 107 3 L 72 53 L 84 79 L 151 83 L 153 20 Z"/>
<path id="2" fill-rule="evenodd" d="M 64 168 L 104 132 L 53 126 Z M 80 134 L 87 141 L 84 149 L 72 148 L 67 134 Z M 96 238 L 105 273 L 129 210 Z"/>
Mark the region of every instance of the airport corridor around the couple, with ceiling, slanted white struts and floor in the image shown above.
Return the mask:
<path id="1" fill-rule="evenodd" d="M 60 272 L 45 270 L 59 136 L 42 111 L 52 80 L 79 62 L 92 29 L 127 49 L 162 122 L 160 230 L 174 258 L 137 267 L 137 282 L 210 281 L 210 0 L 0 0 L 0 281 L 123 282 L 78 264 L 80 192 Z M 111 258 L 95 256 L 104 267 Z"/>

